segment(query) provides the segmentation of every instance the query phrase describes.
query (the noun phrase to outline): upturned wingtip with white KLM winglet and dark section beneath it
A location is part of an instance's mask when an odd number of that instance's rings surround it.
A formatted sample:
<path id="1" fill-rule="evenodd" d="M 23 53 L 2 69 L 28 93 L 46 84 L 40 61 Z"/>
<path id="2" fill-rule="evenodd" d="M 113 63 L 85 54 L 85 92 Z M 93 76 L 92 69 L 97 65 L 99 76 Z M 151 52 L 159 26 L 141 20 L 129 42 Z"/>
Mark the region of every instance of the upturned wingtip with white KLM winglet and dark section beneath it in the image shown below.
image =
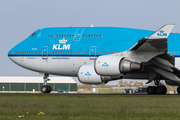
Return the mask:
<path id="1" fill-rule="evenodd" d="M 164 25 L 149 37 L 139 40 L 130 51 L 137 52 L 167 52 L 167 37 L 174 24 Z"/>

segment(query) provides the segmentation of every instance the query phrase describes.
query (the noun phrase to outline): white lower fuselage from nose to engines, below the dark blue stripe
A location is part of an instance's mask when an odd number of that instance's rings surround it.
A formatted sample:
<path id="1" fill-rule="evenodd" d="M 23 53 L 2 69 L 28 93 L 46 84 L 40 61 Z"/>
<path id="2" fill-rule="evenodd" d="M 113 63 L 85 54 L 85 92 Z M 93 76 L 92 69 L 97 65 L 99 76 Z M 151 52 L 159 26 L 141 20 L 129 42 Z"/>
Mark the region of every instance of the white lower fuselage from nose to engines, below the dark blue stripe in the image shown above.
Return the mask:
<path id="1" fill-rule="evenodd" d="M 10 57 L 16 64 L 36 72 L 54 75 L 77 76 L 79 67 L 83 64 L 92 64 L 89 57 Z"/>

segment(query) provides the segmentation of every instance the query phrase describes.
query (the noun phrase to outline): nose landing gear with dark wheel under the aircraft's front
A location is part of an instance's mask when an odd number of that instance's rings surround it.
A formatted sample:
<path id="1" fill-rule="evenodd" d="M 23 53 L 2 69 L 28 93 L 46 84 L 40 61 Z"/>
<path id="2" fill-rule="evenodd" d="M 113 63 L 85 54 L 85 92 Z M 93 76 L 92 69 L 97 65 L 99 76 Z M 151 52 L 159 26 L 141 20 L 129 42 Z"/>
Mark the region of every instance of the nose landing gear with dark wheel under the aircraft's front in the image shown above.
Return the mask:
<path id="1" fill-rule="evenodd" d="M 48 74 L 45 74 L 43 77 L 44 83 L 43 83 L 43 86 L 41 87 L 41 91 L 43 93 L 50 93 L 51 92 L 51 86 L 47 85 L 47 81 L 50 80 L 48 77 L 49 77 Z"/>

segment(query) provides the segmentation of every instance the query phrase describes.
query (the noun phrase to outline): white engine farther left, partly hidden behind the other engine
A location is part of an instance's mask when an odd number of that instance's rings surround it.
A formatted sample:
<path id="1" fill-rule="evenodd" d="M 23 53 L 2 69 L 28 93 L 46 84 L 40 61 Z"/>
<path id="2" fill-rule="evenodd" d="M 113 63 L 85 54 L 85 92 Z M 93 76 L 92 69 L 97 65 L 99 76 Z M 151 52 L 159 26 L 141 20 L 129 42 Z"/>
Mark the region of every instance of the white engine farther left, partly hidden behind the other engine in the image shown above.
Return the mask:
<path id="1" fill-rule="evenodd" d="M 78 70 L 78 79 L 85 84 L 101 84 L 110 80 L 120 79 L 122 76 L 100 76 L 94 70 L 94 65 L 82 65 Z"/>

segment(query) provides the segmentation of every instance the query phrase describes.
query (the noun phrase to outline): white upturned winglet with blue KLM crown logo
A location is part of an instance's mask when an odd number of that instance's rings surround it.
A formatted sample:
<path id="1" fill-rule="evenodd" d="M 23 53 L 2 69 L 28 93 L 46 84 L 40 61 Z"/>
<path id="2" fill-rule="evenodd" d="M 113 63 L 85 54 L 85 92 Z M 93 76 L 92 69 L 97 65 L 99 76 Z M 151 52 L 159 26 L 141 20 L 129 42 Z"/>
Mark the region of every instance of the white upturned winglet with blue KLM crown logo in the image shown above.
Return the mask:
<path id="1" fill-rule="evenodd" d="M 159 30 L 157 30 L 155 33 L 150 35 L 148 39 L 161 39 L 161 38 L 167 38 L 172 31 L 174 27 L 174 24 L 167 24 L 161 27 Z"/>

